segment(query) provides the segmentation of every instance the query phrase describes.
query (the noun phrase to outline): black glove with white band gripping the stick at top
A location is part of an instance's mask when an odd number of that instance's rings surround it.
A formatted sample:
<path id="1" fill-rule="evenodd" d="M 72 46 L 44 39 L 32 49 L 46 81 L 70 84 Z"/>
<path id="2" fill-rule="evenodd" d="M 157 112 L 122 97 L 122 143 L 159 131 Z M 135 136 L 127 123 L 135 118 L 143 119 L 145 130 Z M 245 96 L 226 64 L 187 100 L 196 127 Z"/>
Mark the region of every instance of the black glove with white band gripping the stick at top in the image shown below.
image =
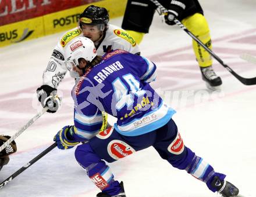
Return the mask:
<path id="1" fill-rule="evenodd" d="M 165 23 L 168 25 L 174 25 L 173 21 L 179 17 L 185 10 L 186 5 L 181 1 L 172 0 L 168 6 L 168 13 L 165 15 Z"/>

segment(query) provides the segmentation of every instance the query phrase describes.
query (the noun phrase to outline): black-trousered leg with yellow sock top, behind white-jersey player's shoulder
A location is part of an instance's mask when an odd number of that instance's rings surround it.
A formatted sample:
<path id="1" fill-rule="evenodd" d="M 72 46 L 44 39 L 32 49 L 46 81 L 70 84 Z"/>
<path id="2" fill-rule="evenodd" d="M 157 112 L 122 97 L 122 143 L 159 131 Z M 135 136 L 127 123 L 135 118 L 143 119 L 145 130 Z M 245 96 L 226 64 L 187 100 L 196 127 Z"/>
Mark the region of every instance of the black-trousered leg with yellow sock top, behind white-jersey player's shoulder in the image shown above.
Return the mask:
<path id="1" fill-rule="evenodd" d="M 155 5 L 148 0 L 128 0 L 123 16 L 122 28 L 125 29 L 137 43 L 148 33 L 155 13 Z"/>

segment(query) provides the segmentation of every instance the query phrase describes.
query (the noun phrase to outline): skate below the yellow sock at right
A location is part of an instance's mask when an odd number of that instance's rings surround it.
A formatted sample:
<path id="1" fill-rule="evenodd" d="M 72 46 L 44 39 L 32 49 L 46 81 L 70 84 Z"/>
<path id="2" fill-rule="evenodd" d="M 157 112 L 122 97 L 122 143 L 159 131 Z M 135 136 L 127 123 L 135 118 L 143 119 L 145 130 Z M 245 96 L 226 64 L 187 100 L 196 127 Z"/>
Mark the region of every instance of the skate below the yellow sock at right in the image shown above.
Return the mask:
<path id="1" fill-rule="evenodd" d="M 221 90 L 221 78 L 216 75 L 211 65 L 208 67 L 200 67 L 200 70 L 202 73 L 202 80 L 206 82 L 208 89 Z"/>

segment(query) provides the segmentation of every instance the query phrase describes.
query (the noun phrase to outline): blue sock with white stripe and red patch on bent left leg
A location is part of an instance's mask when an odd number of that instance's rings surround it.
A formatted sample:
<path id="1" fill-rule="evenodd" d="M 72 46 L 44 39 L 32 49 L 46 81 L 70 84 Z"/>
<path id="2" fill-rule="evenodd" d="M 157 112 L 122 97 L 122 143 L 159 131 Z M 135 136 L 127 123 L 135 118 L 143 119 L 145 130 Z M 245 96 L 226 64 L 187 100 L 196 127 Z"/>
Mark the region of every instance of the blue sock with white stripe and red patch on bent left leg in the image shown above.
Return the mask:
<path id="1" fill-rule="evenodd" d="M 102 192 L 111 196 L 119 194 L 121 188 L 118 181 L 113 179 L 109 166 L 94 153 L 90 144 L 79 145 L 76 148 L 75 156 L 80 166 L 86 170 L 91 181 Z"/>

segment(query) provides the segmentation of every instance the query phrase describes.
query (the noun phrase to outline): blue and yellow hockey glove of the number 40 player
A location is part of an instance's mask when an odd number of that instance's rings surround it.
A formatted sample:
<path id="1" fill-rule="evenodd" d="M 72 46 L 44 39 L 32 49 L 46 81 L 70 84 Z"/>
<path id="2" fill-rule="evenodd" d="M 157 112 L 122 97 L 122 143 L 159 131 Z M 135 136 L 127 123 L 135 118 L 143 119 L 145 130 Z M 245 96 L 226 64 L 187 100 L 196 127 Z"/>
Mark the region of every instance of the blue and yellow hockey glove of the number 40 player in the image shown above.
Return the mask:
<path id="1" fill-rule="evenodd" d="M 70 140 L 67 136 L 72 136 L 74 132 L 74 126 L 65 126 L 63 127 L 55 136 L 54 141 L 56 141 L 59 149 L 69 149 L 73 148 L 80 142 Z"/>

